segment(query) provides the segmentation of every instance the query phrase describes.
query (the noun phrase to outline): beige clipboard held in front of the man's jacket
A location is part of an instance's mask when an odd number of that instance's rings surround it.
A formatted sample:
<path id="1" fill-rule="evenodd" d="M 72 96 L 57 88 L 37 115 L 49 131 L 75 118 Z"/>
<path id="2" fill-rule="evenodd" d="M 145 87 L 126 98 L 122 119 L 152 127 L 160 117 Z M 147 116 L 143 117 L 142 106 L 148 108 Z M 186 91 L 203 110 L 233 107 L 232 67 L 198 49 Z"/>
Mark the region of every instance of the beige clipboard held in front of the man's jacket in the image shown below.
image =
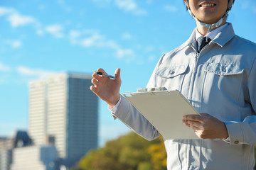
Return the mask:
<path id="1" fill-rule="evenodd" d="M 183 115 L 199 115 L 179 91 L 145 91 L 123 94 L 166 140 L 199 139 L 182 123 Z"/>

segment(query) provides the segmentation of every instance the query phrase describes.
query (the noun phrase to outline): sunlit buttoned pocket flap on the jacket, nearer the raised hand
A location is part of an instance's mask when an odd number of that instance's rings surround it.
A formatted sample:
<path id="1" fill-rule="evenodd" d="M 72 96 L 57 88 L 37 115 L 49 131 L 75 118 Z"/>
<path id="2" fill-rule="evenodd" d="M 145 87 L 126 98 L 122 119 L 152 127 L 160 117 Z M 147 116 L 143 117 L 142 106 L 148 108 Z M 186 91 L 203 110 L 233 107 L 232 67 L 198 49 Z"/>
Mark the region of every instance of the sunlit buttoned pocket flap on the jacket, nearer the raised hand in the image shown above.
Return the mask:
<path id="1" fill-rule="evenodd" d="M 184 74 L 187 68 L 187 64 L 173 67 L 159 67 L 159 69 L 156 70 L 156 75 L 164 78 L 176 77 L 180 74 Z"/>

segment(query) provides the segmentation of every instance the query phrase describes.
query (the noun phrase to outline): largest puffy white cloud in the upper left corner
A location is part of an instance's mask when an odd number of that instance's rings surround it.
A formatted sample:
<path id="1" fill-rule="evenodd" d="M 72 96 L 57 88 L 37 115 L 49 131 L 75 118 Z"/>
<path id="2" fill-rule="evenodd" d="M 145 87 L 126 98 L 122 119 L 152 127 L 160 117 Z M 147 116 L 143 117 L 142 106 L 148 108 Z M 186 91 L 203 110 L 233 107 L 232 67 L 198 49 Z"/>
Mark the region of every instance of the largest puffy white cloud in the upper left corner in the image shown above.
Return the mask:
<path id="1" fill-rule="evenodd" d="M 30 23 L 35 23 L 36 19 L 31 16 L 21 16 L 18 13 L 12 13 L 8 17 L 8 21 L 10 21 L 11 26 L 18 27 L 18 26 L 25 26 Z"/>

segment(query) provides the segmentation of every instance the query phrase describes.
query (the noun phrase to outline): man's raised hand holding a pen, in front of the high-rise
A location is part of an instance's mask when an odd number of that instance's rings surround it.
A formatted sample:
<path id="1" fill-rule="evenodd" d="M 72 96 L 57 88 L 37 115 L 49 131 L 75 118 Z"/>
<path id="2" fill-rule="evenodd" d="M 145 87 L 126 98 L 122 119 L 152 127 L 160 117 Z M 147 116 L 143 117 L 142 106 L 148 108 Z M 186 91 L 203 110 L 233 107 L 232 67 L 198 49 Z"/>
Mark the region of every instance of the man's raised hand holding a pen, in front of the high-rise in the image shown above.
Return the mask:
<path id="1" fill-rule="evenodd" d="M 97 69 L 97 72 L 106 74 L 104 69 Z M 119 68 L 116 69 L 114 76 L 115 79 L 110 79 L 108 77 L 100 76 L 96 73 L 92 74 L 92 84 L 94 84 L 94 86 L 90 86 L 90 90 L 112 108 L 114 108 L 120 99 L 119 90 L 122 81 L 120 79 Z"/>

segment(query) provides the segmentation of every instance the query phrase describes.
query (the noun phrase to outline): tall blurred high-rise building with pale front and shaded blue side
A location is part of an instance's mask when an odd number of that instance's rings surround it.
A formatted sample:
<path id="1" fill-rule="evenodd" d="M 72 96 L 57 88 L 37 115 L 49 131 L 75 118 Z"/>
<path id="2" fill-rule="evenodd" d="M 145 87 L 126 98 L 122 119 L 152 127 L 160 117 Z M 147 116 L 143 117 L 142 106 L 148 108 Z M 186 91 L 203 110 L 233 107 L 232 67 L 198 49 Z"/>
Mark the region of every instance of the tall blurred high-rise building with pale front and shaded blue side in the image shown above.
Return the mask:
<path id="1" fill-rule="evenodd" d="M 92 77 L 61 73 L 29 84 L 28 134 L 33 145 L 55 145 L 58 157 L 78 161 L 98 144 L 98 99 Z"/>

